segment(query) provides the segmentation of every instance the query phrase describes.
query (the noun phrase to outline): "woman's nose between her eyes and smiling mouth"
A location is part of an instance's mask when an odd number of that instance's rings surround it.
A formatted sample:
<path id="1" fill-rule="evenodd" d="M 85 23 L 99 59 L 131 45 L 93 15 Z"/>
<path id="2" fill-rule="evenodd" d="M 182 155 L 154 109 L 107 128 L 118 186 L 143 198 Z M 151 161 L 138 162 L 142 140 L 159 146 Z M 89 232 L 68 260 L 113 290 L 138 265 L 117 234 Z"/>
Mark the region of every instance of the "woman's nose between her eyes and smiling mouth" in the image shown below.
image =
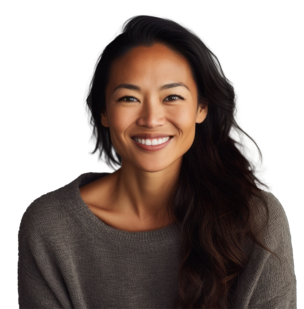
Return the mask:
<path id="1" fill-rule="evenodd" d="M 142 102 L 142 108 L 137 119 L 137 125 L 145 125 L 153 129 L 166 123 L 165 109 L 162 102 L 150 99 Z"/>

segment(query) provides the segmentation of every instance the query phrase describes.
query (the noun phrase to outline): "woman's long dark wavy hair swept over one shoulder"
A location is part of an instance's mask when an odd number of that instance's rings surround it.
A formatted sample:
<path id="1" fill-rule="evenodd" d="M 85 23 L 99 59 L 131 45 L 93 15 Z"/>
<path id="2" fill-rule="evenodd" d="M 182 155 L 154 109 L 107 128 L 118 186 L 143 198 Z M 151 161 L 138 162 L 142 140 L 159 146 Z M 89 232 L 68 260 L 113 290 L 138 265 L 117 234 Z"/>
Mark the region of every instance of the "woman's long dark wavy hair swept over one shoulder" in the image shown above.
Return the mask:
<path id="1" fill-rule="evenodd" d="M 198 102 L 208 105 L 206 119 L 196 124 L 193 145 L 183 157 L 180 176 L 169 199 L 170 211 L 181 222 L 184 246 L 176 307 L 230 308 L 237 277 L 249 261 L 245 243 L 251 239 L 270 251 L 258 240 L 258 224 L 254 220 L 255 211 L 260 211 L 257 205 L 263 205 L 268 220 L 261 186 L 269 187 L 258 178 L 256 165 L 247 156 L 242 138 L 245 135 L 262 158 L 256 142 L 237 124 L 232 83 L 196 33 L 170 19 L 148 15 L 128 19 L 122 32 L 102 51 L 90 83 L 86 102 L 96 137 L 94 151 L 104 153 L 110 164 L 121 164 L 109 128 L 100 121 L 106 107 L 109 71 L 113 61 L 134 47 L 155 43 L 189 61 Z M 259 203 L 250 203 L 251 197 Z"/>

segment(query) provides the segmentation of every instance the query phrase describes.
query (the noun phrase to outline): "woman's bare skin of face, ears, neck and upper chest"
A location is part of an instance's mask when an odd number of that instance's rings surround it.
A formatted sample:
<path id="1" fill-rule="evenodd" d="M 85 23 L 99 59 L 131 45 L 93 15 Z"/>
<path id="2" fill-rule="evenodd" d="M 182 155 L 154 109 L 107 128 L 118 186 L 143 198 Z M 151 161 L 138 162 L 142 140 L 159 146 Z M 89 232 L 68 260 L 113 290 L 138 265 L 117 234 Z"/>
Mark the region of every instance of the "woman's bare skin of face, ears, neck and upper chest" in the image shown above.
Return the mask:
<path id="1" fill-rule="evenodd" d="M 187 87 L 160 90 L 169 83 Z M 120 84 L 140 90 L 115 90 Z M 122 96 L 128 98 L 119 100 Z M 195 124 L 207 116 L 207 106 L 198 104 L 197 97 L 187 60 L 161 44 L 136 47 L 115 61 L 101 122 L 110 128 L 113 146 L 122 157 L 121 168 L 80 188 L 85 203 L 103 222 L 139 232 L 177 221 L 168 216 L 166 199 L 178 180 L 183 155 L 193 143 Z M 131 139 L 141 133 L 173 138 L 162 150 L 150 152 Z"/>

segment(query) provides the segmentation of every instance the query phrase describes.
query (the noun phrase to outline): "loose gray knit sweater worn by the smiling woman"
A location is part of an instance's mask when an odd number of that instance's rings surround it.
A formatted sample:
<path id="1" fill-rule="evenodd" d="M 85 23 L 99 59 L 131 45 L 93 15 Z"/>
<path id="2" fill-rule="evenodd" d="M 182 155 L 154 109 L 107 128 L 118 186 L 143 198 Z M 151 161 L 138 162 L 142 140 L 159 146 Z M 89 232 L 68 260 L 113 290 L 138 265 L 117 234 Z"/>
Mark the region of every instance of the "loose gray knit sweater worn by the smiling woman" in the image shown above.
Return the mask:
<path id="1" fill-rule="evenodd" d="M 20 216 L 18 308 L 172 308 L 182 258 L 180 224 L 131 233 L 103 223 L 82 200 L 79 186 L 106 174 L 81 174 L 34 198 Z M 288 221 L 276 197 L 266 191 L 265 196 L 270 224 L 262 236 L 280 260 L 250 243 L 234 309 L 296 308 Z"/>

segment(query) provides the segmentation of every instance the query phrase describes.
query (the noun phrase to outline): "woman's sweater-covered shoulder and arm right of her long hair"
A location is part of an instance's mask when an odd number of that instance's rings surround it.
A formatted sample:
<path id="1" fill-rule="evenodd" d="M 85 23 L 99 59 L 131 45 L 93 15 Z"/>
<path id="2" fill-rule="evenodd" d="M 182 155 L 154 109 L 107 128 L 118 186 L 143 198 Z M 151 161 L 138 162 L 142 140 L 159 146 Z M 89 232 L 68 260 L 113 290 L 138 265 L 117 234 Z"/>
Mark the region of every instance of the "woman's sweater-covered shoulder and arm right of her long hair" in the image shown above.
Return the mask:
<path id="1" fill-rule="evenodd" d="M 260 199 L 252 197 L 249 202 L 254 210 L 255 235 L 275 255 L 250 241 L 250 262 L 239 277 L 238 301 L 240 307 L 278 308 L 284 304 L 284 308 L 293 308 L 296 287 L 289 223 L 279 199 L 267 188 L 262 196 L 268 220 Z"/>

